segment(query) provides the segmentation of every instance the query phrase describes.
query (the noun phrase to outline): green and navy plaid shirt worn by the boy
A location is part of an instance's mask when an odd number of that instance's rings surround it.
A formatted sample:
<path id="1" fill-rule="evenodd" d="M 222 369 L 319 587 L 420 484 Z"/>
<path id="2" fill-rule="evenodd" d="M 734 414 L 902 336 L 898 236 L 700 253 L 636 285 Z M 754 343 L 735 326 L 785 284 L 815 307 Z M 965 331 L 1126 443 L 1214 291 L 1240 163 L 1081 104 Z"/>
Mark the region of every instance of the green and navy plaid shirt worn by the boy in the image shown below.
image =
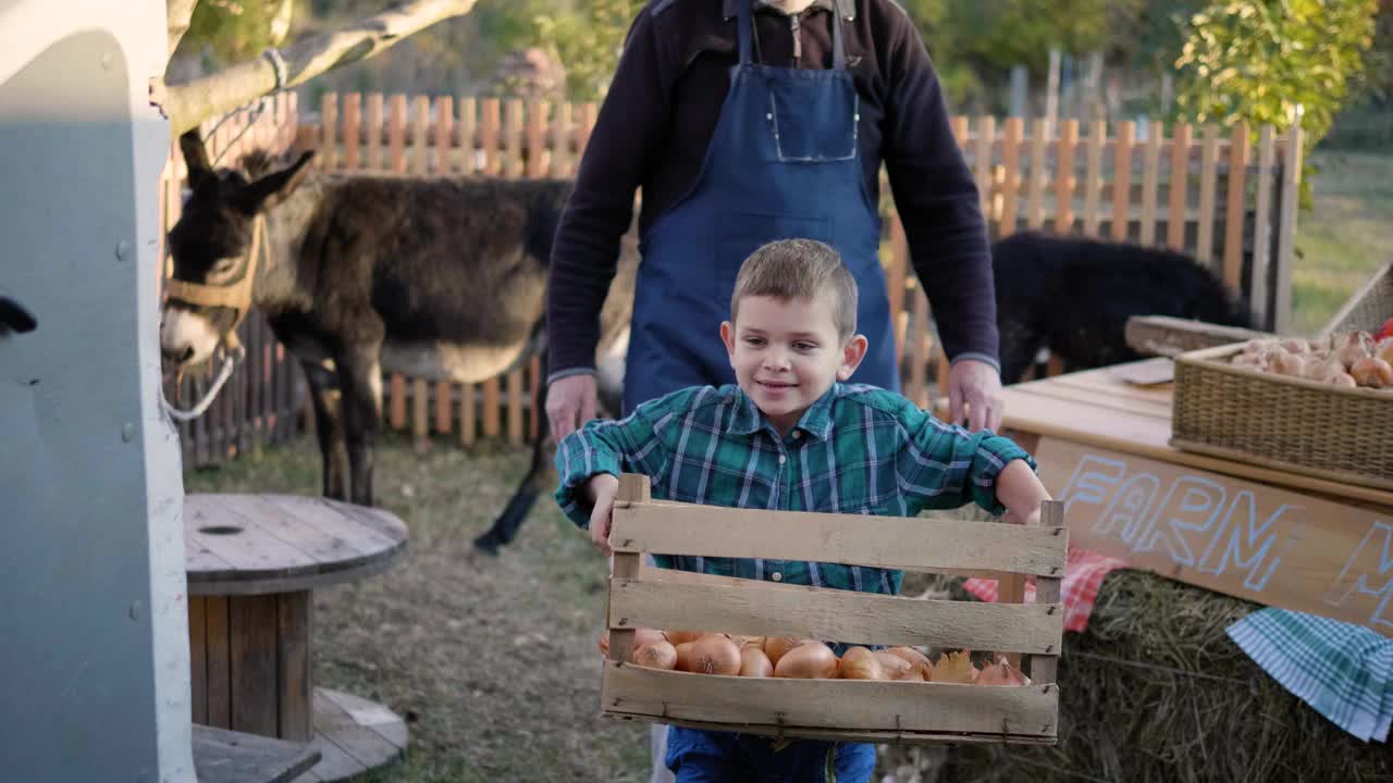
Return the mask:
<path id="1" fill-rule="evenodd" d="M 990 432 L 968 433 L 873 386 L 836 383 L 780 436 L 740 386 L 683 389 L 620 421 L 592 421 L 561 440 L 556 502 L 589 525 L 582 485 L 596 474 L 652 478 L 655 499 L 912 517 L 975 502 L 993 514 L 996 476 L 1035 461 Z M 657 564 L 723 577 L 897 594 L 900 571 L 734 557 L 656 556 Z"/>

